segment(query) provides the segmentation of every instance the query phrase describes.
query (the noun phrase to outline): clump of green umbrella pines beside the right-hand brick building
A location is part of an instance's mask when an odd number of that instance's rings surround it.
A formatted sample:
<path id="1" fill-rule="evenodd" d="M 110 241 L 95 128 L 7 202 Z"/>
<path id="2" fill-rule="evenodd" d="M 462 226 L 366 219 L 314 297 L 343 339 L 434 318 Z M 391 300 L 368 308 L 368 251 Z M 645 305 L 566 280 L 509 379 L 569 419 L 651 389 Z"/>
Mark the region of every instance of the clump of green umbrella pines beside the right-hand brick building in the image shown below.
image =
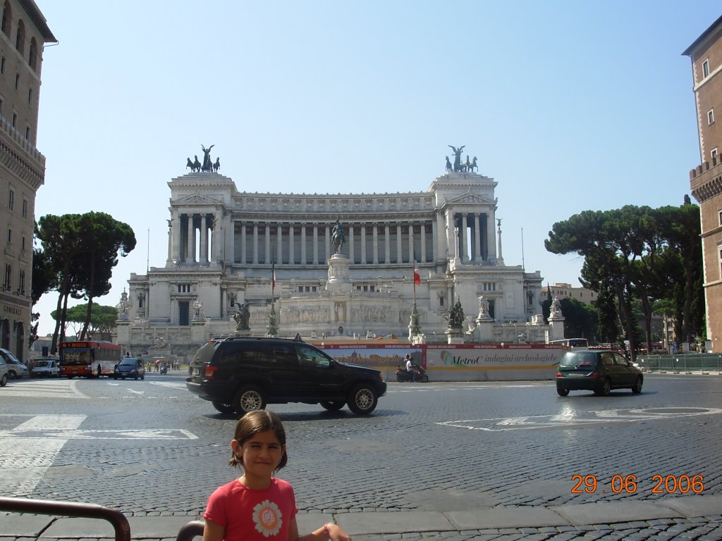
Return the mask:
<path id="1" fill-rule="evenodd" d="M 584 211 L 558 222 L 544 245 L 550 252 L 584 256 L 580 280 L 601 297 L 596 303 L 599 337 L 604 340 L 615 334 L 611 310 L 616 307 L 633 355 L 641 338 L 638 321 L 643 322 L 647 342 L 652 340 L 653 307 L 660 299 L 674 300 L 678 337 L 691 340 L 703 330 L 699 232 L 695 205 L 625 206 Z M 603 297 L 604 291 L 614 291 L 614 297 Z"/>

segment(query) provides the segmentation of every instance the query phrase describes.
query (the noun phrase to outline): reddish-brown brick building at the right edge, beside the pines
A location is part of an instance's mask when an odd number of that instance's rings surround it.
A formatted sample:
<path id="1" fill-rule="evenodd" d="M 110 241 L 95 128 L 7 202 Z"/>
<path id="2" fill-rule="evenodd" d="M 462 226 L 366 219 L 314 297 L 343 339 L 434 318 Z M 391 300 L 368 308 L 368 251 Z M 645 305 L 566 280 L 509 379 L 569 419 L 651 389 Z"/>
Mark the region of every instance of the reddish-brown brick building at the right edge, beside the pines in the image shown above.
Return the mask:
<path id="1" fill-rule="evenodd" d="M 690 171 L 700 203 L 708 350 L 722 351 L 722 17 L 684 53 L 692 60 L 700 165 Z"/>

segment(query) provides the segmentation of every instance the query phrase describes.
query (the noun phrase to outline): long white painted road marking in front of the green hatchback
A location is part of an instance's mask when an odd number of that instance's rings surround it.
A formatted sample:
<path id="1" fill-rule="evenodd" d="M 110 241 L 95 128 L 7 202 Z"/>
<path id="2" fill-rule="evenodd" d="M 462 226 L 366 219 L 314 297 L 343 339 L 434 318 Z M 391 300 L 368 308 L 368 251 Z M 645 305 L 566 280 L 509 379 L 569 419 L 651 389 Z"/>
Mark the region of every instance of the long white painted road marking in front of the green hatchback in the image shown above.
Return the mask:
<path id="1" fill-rule="evenodd" d="M 443 421 L 436 423 L 453 428 L 466 428 L 482 431 L 530 430 L 532 428 L 584 428 L 599 423 L 636 423 L 656 421 L 696 415 L 717 415 L 718 408 L 631 408 L 618 410 L 598 410 L 589 412 L 562 412 L 557 415 L 534 415 L 512 418 L 467 419 L 462 421 Z M 587 416 L 581 416 L 587 415 Z"/>

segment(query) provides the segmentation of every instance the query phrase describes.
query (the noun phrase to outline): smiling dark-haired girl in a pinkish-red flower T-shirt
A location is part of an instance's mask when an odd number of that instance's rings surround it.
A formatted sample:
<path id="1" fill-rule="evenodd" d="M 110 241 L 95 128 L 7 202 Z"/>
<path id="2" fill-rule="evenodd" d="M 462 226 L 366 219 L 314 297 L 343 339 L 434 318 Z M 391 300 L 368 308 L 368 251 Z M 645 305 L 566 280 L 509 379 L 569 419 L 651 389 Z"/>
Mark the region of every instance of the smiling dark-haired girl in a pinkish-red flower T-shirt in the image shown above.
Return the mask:
<path id="1" fill-rule="evenodd" d="M 278 415 L 256 410 L 238 420 L 228 464 L 243 475 L 219 486 L 203 514 L 203 541 L 351 541 L 337 524 L 298 535 L 290 483 L 274 476 L 288 461 L 286 431 Z"/>

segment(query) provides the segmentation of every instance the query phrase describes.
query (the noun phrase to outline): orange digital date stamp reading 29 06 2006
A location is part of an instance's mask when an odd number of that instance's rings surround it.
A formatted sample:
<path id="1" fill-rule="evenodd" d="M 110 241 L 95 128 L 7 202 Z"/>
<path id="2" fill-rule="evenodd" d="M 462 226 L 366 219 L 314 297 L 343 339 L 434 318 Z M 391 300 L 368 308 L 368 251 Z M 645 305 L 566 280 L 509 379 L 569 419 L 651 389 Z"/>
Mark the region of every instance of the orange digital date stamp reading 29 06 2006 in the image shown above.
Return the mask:
<path id="1" fill-rule="evenodd" d="M 604 493 L 607 487 L 614 494 L 701 494 L 705 490 L 705 478 L 702 475 L 652 475 L 651 486 L 648 487 L 636 475 L 612 475 L 609 485 L 599 482 L 596 475 L 572 475 L 572 481 L 575 483 L 571 490 L 573 494 L 592 494 L 597 490 Z M 640 485 L 646 488 L 640 488 Z"/>

